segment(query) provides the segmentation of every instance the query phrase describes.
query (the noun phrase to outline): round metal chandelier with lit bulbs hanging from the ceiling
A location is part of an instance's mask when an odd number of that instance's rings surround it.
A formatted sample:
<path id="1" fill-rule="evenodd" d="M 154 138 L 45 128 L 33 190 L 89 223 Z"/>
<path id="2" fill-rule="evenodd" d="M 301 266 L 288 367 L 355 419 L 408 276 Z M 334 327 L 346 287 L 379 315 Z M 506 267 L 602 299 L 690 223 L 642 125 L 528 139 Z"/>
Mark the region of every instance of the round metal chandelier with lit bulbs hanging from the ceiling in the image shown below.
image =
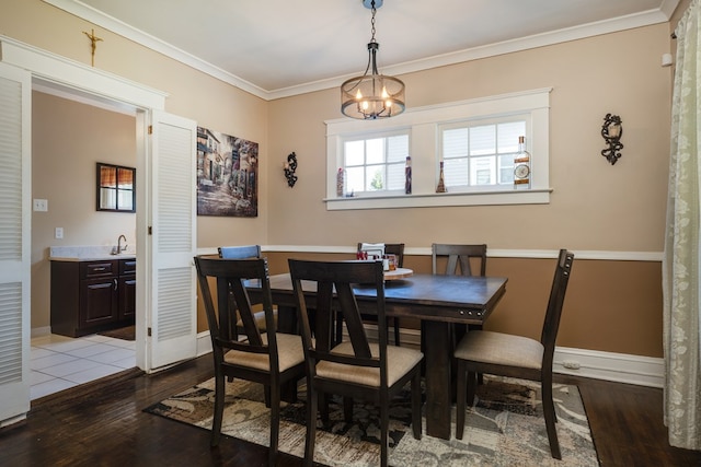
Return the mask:
<path id="1" fill-rule="evenodd" d="M 368 66 L 361 77 L 350 78 L 341 85 L 341 112 L 361 120 L 393 117 L 404 112 L 404 83 L 377 71 L 380 45 L 375 40 L 375 13 L 382 7 L 382 0 L 363 0 L 363 4 L 372 10 Z"/>

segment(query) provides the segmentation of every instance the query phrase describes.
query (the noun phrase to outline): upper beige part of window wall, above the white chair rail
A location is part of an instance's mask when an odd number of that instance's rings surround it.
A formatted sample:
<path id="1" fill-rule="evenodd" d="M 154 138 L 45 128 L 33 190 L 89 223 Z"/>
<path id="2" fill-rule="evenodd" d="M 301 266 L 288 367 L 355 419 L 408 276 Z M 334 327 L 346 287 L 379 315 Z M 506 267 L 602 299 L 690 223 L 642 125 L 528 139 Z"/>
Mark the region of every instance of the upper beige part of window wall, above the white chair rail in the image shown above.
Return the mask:
<path id="1" fill-rule="evenodd" d="M 338 91 L 271 105 L 272 167 L 296 151 L 299 179 L 271 174 L 272 244 L 354 245 L 359 240 L 487 243 L 491 248 L 660 252 L 669 152 L 668 25 L 643 27 L 402 77 L 424 106 L 522 90 L 551 93 L 550 205 L 326 211 L 324 119 Z M 611 51 L 614 52 L 611 52 Z M 313 118 L 301 118 L 300 109 Z M 607 113 L 623 120 L 622 159 L 600 151 Z M 372 122 L 368 122 L 370 128 Z M 277 157 L 277 161 L 275 161 Z M 276 164 L 277 162 L 277 164 Z"/>

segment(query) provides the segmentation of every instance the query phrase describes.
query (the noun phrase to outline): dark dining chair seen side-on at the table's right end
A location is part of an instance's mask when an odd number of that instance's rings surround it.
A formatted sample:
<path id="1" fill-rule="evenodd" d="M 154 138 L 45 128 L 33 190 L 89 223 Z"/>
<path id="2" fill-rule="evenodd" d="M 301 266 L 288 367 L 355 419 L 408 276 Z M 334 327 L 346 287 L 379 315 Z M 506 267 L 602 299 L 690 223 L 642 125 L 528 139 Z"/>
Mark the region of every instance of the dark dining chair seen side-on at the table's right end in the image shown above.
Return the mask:
<path id="1" fill-rule="evenodd" d="M 561 249 L 540 341 L 522 336 L 479 330 L 468 332 L 456 348 L 455 357 L 458 360 L 456 437 L 459 440 L 462 440 L 464 430 L 466 399 L 470 406 L 474 402 L 476 373 L 537 381 L 541 384 L 550 453 L 552 457 L 562 459 L 552 399 L 552 360 L 573 262 L 574 255 L 566 249 Z"/>

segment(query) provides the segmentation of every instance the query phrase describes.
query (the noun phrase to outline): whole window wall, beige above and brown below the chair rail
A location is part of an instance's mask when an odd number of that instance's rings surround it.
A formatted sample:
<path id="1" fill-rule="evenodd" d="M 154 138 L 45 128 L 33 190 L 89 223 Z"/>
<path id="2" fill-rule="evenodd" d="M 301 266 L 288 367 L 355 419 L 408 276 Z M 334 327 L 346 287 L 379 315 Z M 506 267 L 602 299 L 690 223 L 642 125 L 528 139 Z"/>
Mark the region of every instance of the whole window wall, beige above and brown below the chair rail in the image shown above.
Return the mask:
<path id="1" fill-rule="evenodd" d="M 486 243 L 491 249 L 647 252 L 663 249 L 671 69 L 668 24 L 641 27 L 402 77 L 406 102 L 424 106 L 552 87 L 550 205 L 326 211 L 325 127 L 338 92 L 273 102 L 271 153 L 296 151 L 299 179 L 271 174 L 268 242 L 354 245 L 358 241 Z M 300 109 L 313 118 L 300 118 Z M 623 120 L 623 156 L 600 155 L 607 113 Z M 368 122 L 370 127 L 372 124 Z M 280 162 L 272 162 L 279 167 Z M 302 255 L 292 255 L 302 256 Z M 284 267 L 274 256 L 277 269 Z M 409 257 L 429 271 L 426 257 Z M 491 258 L 508 291 L 487 328 L 539 337 L 554 264 Z M 576 259 L 559 346 L 662 357 L 660 264 Z"/>

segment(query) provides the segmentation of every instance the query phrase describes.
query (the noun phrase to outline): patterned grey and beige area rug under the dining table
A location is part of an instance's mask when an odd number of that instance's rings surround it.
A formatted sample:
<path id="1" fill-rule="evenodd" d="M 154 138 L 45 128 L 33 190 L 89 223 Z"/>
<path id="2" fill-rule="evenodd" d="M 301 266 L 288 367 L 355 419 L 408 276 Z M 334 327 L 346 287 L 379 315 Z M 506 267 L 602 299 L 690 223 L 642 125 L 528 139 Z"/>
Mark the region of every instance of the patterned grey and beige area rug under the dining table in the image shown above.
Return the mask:
<path id="1" fill-rule="evenodd" d="M 598 466 L 589 423 L 576 386 L 553 386 L 558 436 L 562 460 L 550 455 L 538 384 L 521 380 L 484 377 L 468 409 L 462 440 L 455 439 L 455 406 L 451 440 L 411 431 L 409 393 L 395 399 L 390 413 L 390 465 L 392 466 Z M 304 398 L 300 384 L 299 398 Z M 317 430 L 314 460 L 327 466 L 379 465 L 379 417 L 372 405 L 356 402 L 354 423 L 345 423 L 341 399 L 332 398 L 330 422 Z M 214 380 L 162 400 L 145 411 L 203 429 L 211 429 Z M 268 445 L 269 410 L 258 384 L 227 384 L 222 433 Z M 304 404 L 283 402 L 279 450 L 298 457 L 304 452 Z"/>

